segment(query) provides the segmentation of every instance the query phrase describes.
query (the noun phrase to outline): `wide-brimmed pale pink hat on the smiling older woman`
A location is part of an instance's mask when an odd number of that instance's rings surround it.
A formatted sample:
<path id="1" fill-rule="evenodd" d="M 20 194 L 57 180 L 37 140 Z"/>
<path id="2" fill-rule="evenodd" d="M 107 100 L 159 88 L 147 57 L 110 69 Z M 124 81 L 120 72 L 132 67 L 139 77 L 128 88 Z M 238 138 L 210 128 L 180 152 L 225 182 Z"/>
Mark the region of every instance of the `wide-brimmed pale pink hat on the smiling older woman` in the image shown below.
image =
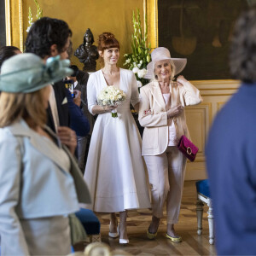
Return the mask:
<path id="1" fill-rule="evenodd" d="M 154 49 L 151 53 L 151 59 L 152 61 L 149 62 L 147 66 L 148 73 L 144 76 L 144 79 L 154 79 L 154 63 L 156 61 L 173 61 L 175 66 L 174 76 L 176 76 L 178 73 L 181 73 L 187 64 L 186 58 L 171 58 L 169 49 L 166 49 L 165 47 L 158 47 Z"/>

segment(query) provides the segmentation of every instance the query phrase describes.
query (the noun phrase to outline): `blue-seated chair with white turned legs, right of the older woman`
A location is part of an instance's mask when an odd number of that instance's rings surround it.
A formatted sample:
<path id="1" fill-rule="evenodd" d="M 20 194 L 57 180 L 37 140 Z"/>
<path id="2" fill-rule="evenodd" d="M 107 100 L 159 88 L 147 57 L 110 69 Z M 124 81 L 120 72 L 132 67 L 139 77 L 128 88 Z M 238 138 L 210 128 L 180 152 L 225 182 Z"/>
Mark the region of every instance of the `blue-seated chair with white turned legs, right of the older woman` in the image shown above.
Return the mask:
<path id="1" fill-rule="evenodd" d="M 209 243 L 214 244 L 213 215 L 212 215 L 212 199 L 210 196 L 209 181 L 204 179 L 195 183 L 197 191 L 196 215 L 197 215 L 197 234 L 202 233 L 202 214 L 203 206 L 207 204 L 208 224 L 209 224 Z"/>

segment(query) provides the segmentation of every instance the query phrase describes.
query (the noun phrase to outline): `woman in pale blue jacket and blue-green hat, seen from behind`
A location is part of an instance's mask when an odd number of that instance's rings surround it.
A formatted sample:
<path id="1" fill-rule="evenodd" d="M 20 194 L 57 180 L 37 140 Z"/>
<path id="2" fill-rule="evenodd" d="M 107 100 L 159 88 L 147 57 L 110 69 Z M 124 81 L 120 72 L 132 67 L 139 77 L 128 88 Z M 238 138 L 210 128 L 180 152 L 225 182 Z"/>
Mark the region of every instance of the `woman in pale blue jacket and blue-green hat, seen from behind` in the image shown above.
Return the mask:
<path id="1" fill-rule="evenodd" d="M 71 251 L 67 214 L 79 211 L 79 201 L 90 202 L 72 154 L 45 125 L 50 84 L 70 73 L 66 61 L 51 58 L 44 64 L 33 54 L 15 55 L 3 63 L 1 255 L 67 255 Z"/>

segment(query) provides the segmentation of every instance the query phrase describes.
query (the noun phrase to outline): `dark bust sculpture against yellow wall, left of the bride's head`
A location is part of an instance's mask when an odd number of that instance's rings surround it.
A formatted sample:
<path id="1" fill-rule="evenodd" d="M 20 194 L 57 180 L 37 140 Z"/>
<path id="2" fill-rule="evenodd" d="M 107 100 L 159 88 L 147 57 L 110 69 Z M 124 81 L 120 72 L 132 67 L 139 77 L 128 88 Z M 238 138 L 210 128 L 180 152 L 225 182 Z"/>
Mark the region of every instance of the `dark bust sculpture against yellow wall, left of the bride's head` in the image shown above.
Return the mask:
<path id="1" fill-rule="evenodd" d="M 83 70 L 86 72 L 96 71 L 96 60 L 99 58 L 99 53 L 94 43 L 93 34 L 90 28 L 84 33 L 84 44 L 81 44 L 76 49 L 74 55 L 79 58 L 81 63 L 84 63 Z"/>

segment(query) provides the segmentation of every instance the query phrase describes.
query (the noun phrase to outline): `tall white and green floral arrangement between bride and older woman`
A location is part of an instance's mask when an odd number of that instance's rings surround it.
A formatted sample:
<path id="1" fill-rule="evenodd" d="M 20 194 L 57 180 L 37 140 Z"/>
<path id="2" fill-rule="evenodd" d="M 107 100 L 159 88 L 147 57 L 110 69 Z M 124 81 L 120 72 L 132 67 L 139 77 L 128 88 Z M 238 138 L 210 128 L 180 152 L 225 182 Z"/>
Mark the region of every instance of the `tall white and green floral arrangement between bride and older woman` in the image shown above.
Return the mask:
<path id="1" fill-rule="evenodd" d="M 133 24 L 133 34 L 131 35 L 131 54 L 125 54 L 125 66 L 135 73 L 137 78 L 138 88 L 145 84 L 148 84 L 148 79 L 144 79 L 147 73 L 148 62 L 151 61 L 150 57 L 150 43 L 147 45 L 148 39 L 148 24 L 147 17 L 145 20 L 144 35 L 142 32 L 142 24 L 140 11 L 137 9 L 137 16 L 135 12 L 132 12 L 132 24 Z"/>

